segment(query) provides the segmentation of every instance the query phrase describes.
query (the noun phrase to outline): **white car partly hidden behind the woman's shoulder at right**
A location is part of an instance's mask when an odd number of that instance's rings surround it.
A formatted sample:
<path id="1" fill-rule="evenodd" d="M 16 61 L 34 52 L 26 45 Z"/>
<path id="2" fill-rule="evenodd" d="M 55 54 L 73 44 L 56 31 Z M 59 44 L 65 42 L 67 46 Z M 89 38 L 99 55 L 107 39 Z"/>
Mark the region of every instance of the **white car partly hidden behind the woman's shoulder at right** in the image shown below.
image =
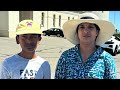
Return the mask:
<path id="1" fill-rule="evenodd" d="M 112 36 L 108 41 L 100 46 L 103 47 L 111 55 L 116 56 L 120 48 L 120 38 Z"/>

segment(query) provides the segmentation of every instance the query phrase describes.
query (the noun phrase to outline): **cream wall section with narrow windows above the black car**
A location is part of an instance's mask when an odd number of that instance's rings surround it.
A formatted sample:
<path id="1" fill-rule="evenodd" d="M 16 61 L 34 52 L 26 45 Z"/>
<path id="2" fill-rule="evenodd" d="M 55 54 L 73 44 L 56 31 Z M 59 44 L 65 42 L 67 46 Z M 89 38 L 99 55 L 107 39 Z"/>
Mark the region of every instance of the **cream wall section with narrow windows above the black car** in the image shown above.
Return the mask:
<path id="1" fill-rule="evenodd" d="M 53 28 L 53 15 L 56 16 L 55 18 L 55 27 L 56 28 L 62 28 L 62 25 L 64 22 L 68 20 L 68 17 L 70 17 L 70 20 L 74 17 L 74 19 L 79 18 L 79 14 L 74 14 L 70 12 L 65 11 L 33 11 L 33 20 L 37 21 L 41 25 L 41 15 L 44 13 L 44 26 L 41 26 L 42 30 L 46 30 L 49 28 Z M 59 15 L 61 16 L 61 26 L 59 26 Z"/>

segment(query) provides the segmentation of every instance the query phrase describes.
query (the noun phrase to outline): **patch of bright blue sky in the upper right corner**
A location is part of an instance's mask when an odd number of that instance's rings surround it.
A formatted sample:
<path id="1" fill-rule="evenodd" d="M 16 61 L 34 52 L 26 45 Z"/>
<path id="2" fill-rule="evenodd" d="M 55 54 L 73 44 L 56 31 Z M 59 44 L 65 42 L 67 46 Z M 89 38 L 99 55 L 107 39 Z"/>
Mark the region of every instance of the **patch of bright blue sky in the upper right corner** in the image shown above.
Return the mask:
<path id="1" fill-rule="evenodd" d="M 109 21 L 111 21 L 116 29 L 120 32 L 120 11 L 110 11 L 109 13 Z"/>

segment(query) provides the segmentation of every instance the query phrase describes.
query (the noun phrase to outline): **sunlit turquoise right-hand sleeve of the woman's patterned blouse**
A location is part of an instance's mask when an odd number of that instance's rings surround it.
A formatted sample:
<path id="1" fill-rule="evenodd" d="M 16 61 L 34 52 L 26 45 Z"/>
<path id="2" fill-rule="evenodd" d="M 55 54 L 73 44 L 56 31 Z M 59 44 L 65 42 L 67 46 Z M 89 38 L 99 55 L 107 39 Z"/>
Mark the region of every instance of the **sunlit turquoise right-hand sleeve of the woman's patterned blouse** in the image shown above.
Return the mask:
<path id="1" fill-rule="evenodd" d="M 117 78 L 117 70 L 115 60 L 109 53 L 105 55 L 105 79 L 116 79 Z"/>

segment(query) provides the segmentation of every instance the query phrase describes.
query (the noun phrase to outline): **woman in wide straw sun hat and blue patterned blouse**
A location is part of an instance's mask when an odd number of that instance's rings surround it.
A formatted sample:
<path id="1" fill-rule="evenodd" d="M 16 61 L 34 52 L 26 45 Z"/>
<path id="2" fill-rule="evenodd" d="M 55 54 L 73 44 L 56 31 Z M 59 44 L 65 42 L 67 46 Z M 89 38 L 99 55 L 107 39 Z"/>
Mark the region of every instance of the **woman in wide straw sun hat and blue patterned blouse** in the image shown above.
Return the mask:
<path id="1" fill-rule="evenodd" d="M 55 79 L 116 79 L 114 58 L 99 46 L 114 34 L 115 27 L 90 15 L 63 25 L 66 39 L 75 47 L 62 53 Z"/>

